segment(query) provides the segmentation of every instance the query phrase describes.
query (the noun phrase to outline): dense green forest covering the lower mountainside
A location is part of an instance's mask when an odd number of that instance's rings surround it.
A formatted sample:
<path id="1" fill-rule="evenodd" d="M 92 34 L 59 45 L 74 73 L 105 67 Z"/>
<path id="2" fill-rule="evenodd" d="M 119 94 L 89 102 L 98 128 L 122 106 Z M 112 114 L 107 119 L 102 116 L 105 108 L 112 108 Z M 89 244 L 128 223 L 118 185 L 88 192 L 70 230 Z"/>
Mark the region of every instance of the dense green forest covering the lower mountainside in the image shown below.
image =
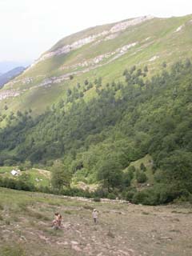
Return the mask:
<path id="1" fill-rule="evenodd" d="M 31 110 L 11 113 L 0 130 L 0 165 L 52 168 L 58 190 L 75 178 L 99 183 L 100 196 L 136 203 L 190 199 L 192 64 L 163 63 L 159 74 L 148 73 L 147 66 L 132 66 L 122 74 L 125 82 L 86 80 L 37 118 Z M 87 90 L 95 92 L 89 101 Z M 154 184 L 138 190 L 131 180 L 146 182 L 146 166 L 129 165 L 146 154 L 153 158 Z"/>

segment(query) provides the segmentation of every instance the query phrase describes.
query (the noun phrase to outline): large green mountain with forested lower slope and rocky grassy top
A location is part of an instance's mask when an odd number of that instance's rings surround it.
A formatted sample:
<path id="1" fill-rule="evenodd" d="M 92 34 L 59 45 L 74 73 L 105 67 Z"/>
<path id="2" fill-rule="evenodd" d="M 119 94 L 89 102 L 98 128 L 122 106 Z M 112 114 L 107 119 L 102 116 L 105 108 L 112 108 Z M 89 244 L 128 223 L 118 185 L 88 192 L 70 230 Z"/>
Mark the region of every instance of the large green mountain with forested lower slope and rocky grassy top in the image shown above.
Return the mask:
<path id="1" fill-rule="evenodd" d="M 52 170 L 49 192 L 190 200 L 191 30 L 142 17 L 59 41 L 2 88 L 0 165 Z"/>

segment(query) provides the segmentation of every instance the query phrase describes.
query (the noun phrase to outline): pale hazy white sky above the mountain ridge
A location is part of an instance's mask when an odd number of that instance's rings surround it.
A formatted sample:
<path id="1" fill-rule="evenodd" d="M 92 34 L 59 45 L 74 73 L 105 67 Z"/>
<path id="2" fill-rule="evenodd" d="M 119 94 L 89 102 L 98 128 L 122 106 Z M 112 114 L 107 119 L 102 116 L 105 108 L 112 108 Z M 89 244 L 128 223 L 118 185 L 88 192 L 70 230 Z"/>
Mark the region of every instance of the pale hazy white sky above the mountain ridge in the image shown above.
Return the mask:
<path id="1" fill-rule="evenodd" d="M 59 39 L 90 26 L 191 13 L 192 0 L 0 0 L 0 62 L 34 60 Z"/>

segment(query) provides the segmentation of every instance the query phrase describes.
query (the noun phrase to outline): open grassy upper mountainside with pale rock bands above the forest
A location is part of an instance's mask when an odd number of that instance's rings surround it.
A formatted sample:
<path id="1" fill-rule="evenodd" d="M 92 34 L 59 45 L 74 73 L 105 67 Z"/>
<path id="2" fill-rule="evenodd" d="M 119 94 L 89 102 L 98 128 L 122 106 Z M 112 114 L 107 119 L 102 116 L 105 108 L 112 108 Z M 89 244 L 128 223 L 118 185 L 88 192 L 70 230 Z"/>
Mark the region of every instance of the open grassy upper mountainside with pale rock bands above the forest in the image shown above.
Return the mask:
<path id="1" fill-rule="evenodd" d="M 162 65 L 191 57 L 192 16 L 141 17 L 96 26 L 63 38 L 1 91 L 1 109 L 31 108 L 42 113 L 66 90 L 86 79 L 121 81 L 122 71 L 137 64 L 154 74 Z M 86 98 L 93 93 L 85 95 Z M 6 103 L 5 103 L 6 102 Z"/>

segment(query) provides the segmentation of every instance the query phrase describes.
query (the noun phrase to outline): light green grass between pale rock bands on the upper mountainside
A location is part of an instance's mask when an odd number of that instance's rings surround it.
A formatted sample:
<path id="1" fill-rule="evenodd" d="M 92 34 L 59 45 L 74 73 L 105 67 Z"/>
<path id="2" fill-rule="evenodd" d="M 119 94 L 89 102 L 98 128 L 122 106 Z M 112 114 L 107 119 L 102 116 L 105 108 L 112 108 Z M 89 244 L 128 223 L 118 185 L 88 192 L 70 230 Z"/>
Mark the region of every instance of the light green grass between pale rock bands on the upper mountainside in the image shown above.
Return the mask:
<path id="1" fill-rule="evenodd" d="M 192 57 L 190 49 L 192 42 L 191 18 L 191 15 L 181 18 L 154 18 L 150 21 L 143 22 L 138 26 L 127 28 L 125 31 L 118 34 L 118 38 L 100 42 L 98 45 L 90 43 L 89 45 L 71 51 L 69 54 L 62 54 L 58 57 L 39 62 L 34 68 L 26 71 L 26 73 L 22 74 L 19 78 L 39 75 L 40 77 L 34 78 L 34 82 L 26 86 L 23 86 L 18 82 L 14 85 L 15 89 L 26 89 L 30 86 L 38 85 L 45 77 L 65 74 L 66 70 L 59 70 L 59 67 L 63 64 L 66 66 L 76 64 L 83 60 L 94 58 L 99 54 L 113 51 L 130 42 L 138 42 L 137 46 L 130 48 L 130 50 L 128 50 L 128 52 L 121 58 L 102 67 L 98 67 L 95 70 L 90 70 L 90 72 L 85 74 L 76 75 L 71 81 L 61 82 L 58 85 L 53 84 L 49 88 L 27 90 L 19 97 L 7 98 L 0 102 L 0 110 L 2 113 L 8 114 L 11 110 L 23 110 L 31 107 L 34 110 L 34 114 L 39 114 L 46 109 L 46 106 L 50 106 L 54 102 L 57 102 L 58 99 L 62 97 L 62 94 L 65 94 L 67 88 L 76 86 L 77 82 L 83 84 L 86 78 L 93 82 L 94 78 L 101 76 L 103 78 L 103 85 L 105 85 L 106 82 L 121 80 L 122 71 L 126 67 L 129 68 L 135 64 L 138 66 L 147 64 L 150 69 L 150 74 L 154 74 L 164 61 L 172 63 L 179 58 Z M 174 31 L 183 24 L 185 24 L 185 26 L 182 30 L 175 33 Z M 111 25 L 106 25 L 81 31 L 78 34 L 62 39 L 52 50 L 58 48 L 58 46 L 63 46 L 64 43 L 74 42 L 74 40 L 85 38 L 90 34 L 102 32 L 110 27 Z M 148 41 L 145 41 L 146 38 L 149 38 Z M 158 56 L 158 58 L 153 62 L 149 62 L 150 58 L 153 58 L 154 56 Z M 71 70 L 67 70 L 67 72 L 70 71 Z M 10 86 L 7 85 L 5 90 L 9 88 Z M 94 91 L 92 90 L 90 94 L 86 95 L 88 95 L 89 98 L 92 98 L 94 96 Z M 8 110 L 4 110 L 5 104 L 9 107 Z"/>

